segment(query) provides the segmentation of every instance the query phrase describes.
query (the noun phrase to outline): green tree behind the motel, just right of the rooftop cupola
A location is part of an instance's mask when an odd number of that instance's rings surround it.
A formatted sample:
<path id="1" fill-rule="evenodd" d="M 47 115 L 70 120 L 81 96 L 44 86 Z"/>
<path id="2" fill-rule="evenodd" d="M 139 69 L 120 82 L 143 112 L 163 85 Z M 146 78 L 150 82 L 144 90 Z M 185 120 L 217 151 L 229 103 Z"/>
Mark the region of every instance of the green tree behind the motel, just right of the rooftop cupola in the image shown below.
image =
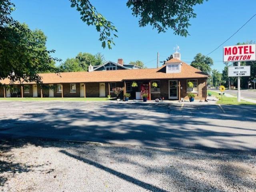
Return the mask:
<path id="1" fill-rule="evenodd" d="M 211 66 L 213 65 L 213 60 L 211 57 L 206 57 L 202 55 L 202 53 L 198 53 L 190 65 L 204 73 L 210 74 L 212 71 Z"/>

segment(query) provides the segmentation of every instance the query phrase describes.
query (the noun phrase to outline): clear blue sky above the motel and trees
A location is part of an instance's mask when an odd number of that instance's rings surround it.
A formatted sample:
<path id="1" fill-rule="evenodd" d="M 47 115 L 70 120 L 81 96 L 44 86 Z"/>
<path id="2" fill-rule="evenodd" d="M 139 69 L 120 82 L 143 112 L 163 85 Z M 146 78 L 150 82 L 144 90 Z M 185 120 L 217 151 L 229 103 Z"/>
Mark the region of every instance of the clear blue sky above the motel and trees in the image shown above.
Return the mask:
<path id="1" fill-rule="evenodd" d="M 80 20 L 68 0 L 12 0 L 16 11 L 12 16 L 25 22 L 31 29 L 41 29 L 47 39 L 47 48 L 55 49 L 54 57 L 65 60 L 79 52 L 101 52 L 106 60 L 125 63 L 141 60 L 148 68 L 156 67 L 157 52 L 160 61 L 174 52 L 178 44 L 182 61 L 190 63 L 197 53 L 204 55 L 218 47 L 256 13 L 255 0 L 209 0 L 194 7 L 197 17 L 190 20 L 190 36 L 180 37 L 170 29 L 158 34 L 151 26 L 139 28 L 138 18 L 126 7 L 125 0 L 91 0 L 98 12 L 112 21 L 118 29 L 116 46 L 103 49 L 94 26 Z M 256 40 L 256 17 L 240 30 L 224 46 Z M 213 69 L 222 70 L 222 47 L 209 55 L 214 60 Z"/>

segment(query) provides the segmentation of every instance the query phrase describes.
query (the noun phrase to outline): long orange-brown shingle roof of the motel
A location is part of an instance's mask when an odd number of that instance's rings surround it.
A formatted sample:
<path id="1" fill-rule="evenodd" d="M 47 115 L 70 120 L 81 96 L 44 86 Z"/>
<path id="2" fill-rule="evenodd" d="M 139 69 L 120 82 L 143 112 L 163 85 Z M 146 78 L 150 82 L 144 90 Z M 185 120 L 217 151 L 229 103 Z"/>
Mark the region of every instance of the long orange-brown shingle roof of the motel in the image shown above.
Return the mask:
<path id="1" fill-rule="evenodd" d="M 168 63 L 182 62 L 178 59 L 170 59 Z M 184 78 L 207 78 L 208 75 L 202 71 L 182 62 L 180 73 L 165 73 L 166 65 L 154 69 L 131 69 L 113 71 L 81 71 L 65 73 L 40 73 L 43 83 L 88 83 L 88 82 L 118 82 L 123 80 L 143 79 L 184 79 Z M 9 84 L 8 79 L 0 81 Z M 18 82 L 16 82 L 18 84 Z M 25 83 L 24 83 L 25 84 Z M 33 84 L 33 82 L 28 83 Z"/>

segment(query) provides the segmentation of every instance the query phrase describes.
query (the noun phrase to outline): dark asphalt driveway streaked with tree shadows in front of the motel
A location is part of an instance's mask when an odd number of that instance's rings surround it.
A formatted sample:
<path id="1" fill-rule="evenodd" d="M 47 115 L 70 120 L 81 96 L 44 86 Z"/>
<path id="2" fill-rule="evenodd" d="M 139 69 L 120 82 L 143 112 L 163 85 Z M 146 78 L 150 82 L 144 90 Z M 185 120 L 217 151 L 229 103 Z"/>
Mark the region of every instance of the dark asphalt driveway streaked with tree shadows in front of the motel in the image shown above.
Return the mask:
<path id="1" fill-rule="evenodd" d="M 208 152 L 256 152 L 256 107 L 0 102 L 0 137 L 27 136 Z"/>

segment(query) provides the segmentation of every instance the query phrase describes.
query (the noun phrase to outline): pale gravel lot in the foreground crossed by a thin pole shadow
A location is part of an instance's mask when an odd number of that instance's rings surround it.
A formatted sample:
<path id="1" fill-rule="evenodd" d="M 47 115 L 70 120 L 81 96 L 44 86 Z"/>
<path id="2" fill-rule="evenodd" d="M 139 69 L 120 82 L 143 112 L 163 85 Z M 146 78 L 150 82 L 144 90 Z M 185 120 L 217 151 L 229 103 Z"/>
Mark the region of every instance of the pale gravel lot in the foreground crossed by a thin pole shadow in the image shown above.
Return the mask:
<path id="1" fill-rule="evenodd" d="M 2 192 L 255 192 L 256 157 L 64 141 L 0 143 Z"/>

